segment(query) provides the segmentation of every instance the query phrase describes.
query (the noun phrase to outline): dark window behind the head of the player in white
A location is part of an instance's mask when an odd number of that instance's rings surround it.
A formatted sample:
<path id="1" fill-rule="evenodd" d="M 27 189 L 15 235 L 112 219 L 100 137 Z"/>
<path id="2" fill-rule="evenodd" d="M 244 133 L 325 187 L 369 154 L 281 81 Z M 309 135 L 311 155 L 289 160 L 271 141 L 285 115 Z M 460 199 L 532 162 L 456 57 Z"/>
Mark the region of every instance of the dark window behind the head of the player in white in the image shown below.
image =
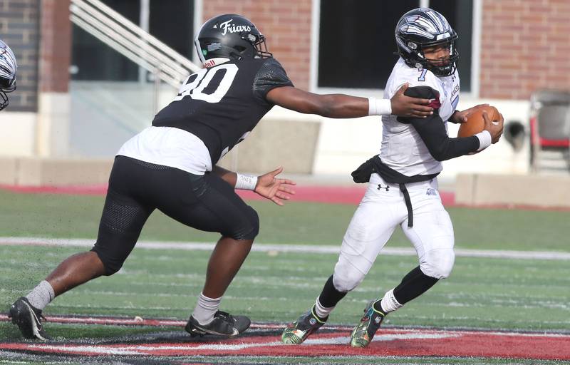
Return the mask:
<path id="1" fill-rule="evenodd" d="M 425 6 L 426 1 L 421 1 Z M 318 40 L 319 88 L 381 89 L 398 60 L 394 30 L 406 11 L 419 0 L 376 1 L 321 0 Z M 460 38 L 458 68 L 461 90 L 471 90 L 473 0 L 429 0 Z"/>

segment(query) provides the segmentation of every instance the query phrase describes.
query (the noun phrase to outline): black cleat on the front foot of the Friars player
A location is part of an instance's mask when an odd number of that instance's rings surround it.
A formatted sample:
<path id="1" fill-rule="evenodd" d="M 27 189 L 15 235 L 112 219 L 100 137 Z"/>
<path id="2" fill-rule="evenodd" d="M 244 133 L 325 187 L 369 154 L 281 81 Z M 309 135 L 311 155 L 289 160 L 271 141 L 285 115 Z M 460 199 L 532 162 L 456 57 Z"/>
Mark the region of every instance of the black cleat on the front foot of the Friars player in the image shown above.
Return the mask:
<path id="1" fill-rule="evenodd" d="M 190 316 L 185 330 L 190 336 L 204 336 L 204 334 L 216 334 L 218 336 L 234 337 L 249 328 L 252 321 L 245 316 L 232 316 L 232 314 L 217 311 L 214 320 L 209 324 L 199 324 L 194 317 Z"/>

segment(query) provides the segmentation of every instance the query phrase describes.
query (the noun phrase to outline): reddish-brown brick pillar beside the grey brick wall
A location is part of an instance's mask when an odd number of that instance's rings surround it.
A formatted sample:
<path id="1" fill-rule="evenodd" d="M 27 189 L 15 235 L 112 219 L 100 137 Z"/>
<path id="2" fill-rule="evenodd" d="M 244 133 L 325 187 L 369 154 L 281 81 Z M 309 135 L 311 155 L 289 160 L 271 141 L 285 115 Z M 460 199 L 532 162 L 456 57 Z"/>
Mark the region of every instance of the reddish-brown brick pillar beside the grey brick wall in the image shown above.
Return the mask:
<path id="1" fill-rule="evenodd" d="M 71 60 L 69 0 L 41 0 L 40 90 L 67 93 Z"/>

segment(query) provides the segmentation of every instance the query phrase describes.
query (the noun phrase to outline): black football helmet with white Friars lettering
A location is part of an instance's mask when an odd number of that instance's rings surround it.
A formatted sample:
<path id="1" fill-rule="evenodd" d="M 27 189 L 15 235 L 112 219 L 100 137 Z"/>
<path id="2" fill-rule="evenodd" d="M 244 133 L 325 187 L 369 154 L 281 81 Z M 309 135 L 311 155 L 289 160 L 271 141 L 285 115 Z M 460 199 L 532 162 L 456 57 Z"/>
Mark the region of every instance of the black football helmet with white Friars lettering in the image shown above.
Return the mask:
<path id="1" fill-rule="evenodd" d="M 244 16 L 224 14 L 214 16 L 200 28 L 195 46 L 204 67 L 219 63 L 216 58 L 241 60 L 243 58 L 267 58 L 265 37 Z"/>

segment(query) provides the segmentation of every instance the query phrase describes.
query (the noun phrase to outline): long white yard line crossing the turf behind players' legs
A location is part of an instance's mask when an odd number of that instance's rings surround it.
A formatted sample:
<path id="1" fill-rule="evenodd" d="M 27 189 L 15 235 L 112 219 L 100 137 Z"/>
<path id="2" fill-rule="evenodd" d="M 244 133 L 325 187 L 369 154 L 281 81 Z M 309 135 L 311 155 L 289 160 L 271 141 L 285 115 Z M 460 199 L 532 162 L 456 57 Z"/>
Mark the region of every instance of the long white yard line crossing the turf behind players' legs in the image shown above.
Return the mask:
<path id="1" fill-rule="evenodd" d="M 16 245 L 16 246 L 73 246 L 73 247 L 92 247 L 95 240 L 83 239 L 64 239 L 64 238 L 42 238 L 42 237 L 0 237 L 0 245 Z M 137 243 L 138 248 L 148 250 L 212 250 L 214 243 L 212 242 L 172 242 L 172 241 L 140 241 Z M 307 252 L 318 254 L 338 254 L 340 245 L 273 245 L 256 243 L 252 247 L 252 251 L 256 252 Z M 413 248 L 394 248 L 385 247 L 382 255 L 393 256 L 415 256 Z M 507 251 L 507 250 L 466 250 L 456 249 L 455 255 L 459 257 L 492 257 L 503 259 L 555 259 L 570 260 L 570 252 L 556 251 Z"/>

